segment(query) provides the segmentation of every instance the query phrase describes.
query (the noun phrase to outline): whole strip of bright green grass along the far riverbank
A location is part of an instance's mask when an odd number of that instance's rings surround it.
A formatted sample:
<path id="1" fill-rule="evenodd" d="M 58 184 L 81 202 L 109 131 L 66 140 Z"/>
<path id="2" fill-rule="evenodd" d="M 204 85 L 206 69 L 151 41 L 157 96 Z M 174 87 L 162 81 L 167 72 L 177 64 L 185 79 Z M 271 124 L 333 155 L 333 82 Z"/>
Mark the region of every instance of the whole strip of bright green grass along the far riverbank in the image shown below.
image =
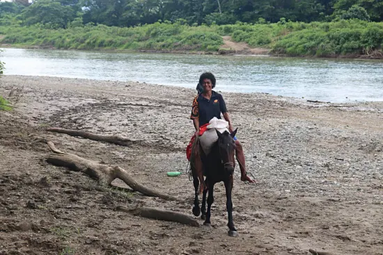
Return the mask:
<path id="1" fill-rule="evenodd" d="M 287 56 L 370 56 L 383 58 L 383 23 L 341 20 L 338 22 L 285 22 L 276 24 L 233 24 L 188 26 L 155 23 L 134 28 L 104 25 L 68 29 L 42 26 L 3 26 L 1 42 L 16 47 L 56 49 L 115 49 L 153 51 L 205 51 L 217 53 L 230 35 L 251 47 L 272 49 Z"/>

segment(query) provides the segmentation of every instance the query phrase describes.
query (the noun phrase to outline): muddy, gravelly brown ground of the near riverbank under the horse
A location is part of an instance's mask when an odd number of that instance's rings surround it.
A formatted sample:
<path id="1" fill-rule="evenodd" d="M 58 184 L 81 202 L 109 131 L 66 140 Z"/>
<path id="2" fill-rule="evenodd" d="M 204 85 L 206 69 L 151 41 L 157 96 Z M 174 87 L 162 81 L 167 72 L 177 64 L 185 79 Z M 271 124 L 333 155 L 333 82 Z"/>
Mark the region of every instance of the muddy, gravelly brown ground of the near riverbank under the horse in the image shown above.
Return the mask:
<path id="1" fill-rule="evenodd" d="M 18 90 L 16 90 L 18 89 Z M 217 84 L 219 91 L 219 83 Z M 0 94 L 0 254 L 383 254 L 383 103 L 312 104 L 270 94 L 223 93 L 257 183 L 233 190 L 237 238 L 215 186 L 212 227 L 188 227 L 116 211 L 154 206 L 192 216 L 185 147 L 195 91 L 135 82 L 4 76 Z M 120 134 L 120 147 L 48 133 L 47 127 Z M 119 165 L 178 197 L 100 189 L 49 165 L 41 139 Z M 180 171 L 178 177 L 167 171 Z M 123 186 L 121 181 L 114 185 Z M 201 220 L 201 223 L 203 221 Z"/>

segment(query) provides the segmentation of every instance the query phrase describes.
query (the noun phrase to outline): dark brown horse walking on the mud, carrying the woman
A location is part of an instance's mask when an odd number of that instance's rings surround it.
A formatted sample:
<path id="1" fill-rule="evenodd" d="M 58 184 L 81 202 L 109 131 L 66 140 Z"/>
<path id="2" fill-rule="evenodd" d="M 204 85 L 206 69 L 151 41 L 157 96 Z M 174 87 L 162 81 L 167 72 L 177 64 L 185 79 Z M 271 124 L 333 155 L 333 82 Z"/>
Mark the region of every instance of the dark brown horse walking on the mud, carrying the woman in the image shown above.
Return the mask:
<path id="1" fill-rule="evenodd" d="M 231 201 L 231 190 L 233 189 L 233 173 L 235 167 L 235 141 L 234 136 L 237 133 L 237 129 L 233 133 L 219 133 L 217 131 L 218 140 L 214 142 L 212 149 L 208 155 L 203 154 L 203 150 L 199 148 L 199 144 L 196 144 L 196 149 L 201 157 L 203 165 L 203 175 L 206 176 L 205 183 L 208 189 L 203 191 L 203 199 L 201 209 L 199 208 L 198 200 L 198 186 L 200 184 L 198 180 L 198 174 L 196 167 L 192 166 L 192 176 L 195 188 L 194 207 L 193 214 L 199 216 L 201 211 L 201 219 L 205 220 L 203 224 L 210 225 L 210 209 L 212 207 L 214 197 L 213 190 L 214 184 L 221 181 L 224 182 L 226 190 L 226 209 L 228 211 L 228 235 L 237 236 L 237 230 L 233 223 L 233 202 Z M 206 211 L 206 193 L 208 192 L 208 211 Z"/>

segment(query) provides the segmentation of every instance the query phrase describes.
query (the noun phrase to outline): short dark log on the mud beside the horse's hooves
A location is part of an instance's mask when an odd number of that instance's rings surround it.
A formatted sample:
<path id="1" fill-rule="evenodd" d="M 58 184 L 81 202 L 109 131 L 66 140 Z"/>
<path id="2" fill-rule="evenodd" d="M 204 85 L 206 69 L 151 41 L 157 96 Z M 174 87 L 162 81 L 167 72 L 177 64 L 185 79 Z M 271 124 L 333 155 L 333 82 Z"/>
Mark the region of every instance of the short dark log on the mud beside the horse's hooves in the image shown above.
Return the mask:
<path id="1" fill-rule="evenodd" d="M 174 211 L 164 211 L 155 208 L 141 207 L 129 209 L 125 206 L 117 206 L 117 211 L 123 211 L 126 213 L 132 213 L 132 215 L 147 217 L 155 220 L 164 220 L 168 222 L 178 222 L 185 225 L 190 225 L 193 227 L 199 227 L 199 223 L 194 218 L 185 215 L 183 213 L 178 213 Z"/>

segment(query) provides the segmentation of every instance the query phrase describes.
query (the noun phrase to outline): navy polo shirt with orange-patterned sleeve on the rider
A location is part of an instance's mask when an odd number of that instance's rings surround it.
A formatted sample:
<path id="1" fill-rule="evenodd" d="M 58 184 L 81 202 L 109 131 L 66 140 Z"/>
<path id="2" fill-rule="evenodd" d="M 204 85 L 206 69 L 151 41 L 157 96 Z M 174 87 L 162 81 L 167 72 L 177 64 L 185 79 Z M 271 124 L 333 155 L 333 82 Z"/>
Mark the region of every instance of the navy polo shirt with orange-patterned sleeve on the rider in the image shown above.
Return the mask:
<path id="1" fill-rule="evenodd" d="M 221 119 L 221 113 L 227 111 L 224 97 L 213 90 L 210 100 L 203 97 L 202 94 L 198 94 L 194 98 L 190 119 L 198 118 L 199 126 L 203 126 L 209 123 L 213 117 Z"/>

